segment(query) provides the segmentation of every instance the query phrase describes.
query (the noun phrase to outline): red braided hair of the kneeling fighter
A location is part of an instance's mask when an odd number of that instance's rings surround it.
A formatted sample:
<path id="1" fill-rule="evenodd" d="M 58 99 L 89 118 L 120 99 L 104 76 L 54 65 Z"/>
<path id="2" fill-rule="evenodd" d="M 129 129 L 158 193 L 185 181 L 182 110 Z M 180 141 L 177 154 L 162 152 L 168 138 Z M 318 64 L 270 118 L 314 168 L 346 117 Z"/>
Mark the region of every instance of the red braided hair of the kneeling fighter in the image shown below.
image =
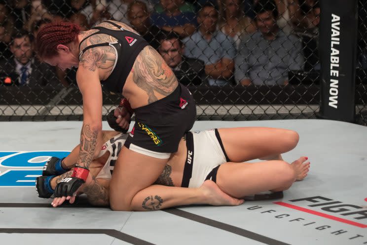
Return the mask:
<path id="1" fill-rule="evenodd" d="M 41 58 L 57 55 L 57 45 L 68 45 L 75 41 L 80 33 L 80 26 L 68 21 L 46 24 L 40 28 L 36 38 L 36 51 Z"/>

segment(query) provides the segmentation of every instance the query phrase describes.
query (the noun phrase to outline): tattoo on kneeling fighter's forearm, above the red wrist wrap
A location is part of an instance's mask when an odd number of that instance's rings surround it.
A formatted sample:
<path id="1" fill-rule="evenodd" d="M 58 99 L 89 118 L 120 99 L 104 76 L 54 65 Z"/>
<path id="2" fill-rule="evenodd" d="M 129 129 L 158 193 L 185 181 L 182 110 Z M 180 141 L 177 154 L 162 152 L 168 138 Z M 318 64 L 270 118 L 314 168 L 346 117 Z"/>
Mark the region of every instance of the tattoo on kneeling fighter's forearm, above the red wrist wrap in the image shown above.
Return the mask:
<path id="1" fill-rule="evenodd" d="M 97 128 L 91 129 L 89 124 L 83 124 L 80 134 L 79 157 L 76 165 L 89 168 L 93 160 L 94 150 L 96 149 L 98 132 L 99 130 Z"/>

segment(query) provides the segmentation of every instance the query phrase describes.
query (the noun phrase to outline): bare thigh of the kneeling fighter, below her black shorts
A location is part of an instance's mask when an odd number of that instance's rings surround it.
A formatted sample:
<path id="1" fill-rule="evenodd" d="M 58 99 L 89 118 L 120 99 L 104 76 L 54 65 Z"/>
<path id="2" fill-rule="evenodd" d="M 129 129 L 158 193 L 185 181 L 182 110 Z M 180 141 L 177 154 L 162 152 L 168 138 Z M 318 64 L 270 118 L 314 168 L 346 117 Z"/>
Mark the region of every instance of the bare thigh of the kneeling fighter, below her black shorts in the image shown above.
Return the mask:
<path id="1" fill-rule="evenodd" d="M 123 147 L 110 181 L 110 205 L 113 210 L 130 208 L 133 197 L 158 178 L 168 159 L 149 157 Z"/>

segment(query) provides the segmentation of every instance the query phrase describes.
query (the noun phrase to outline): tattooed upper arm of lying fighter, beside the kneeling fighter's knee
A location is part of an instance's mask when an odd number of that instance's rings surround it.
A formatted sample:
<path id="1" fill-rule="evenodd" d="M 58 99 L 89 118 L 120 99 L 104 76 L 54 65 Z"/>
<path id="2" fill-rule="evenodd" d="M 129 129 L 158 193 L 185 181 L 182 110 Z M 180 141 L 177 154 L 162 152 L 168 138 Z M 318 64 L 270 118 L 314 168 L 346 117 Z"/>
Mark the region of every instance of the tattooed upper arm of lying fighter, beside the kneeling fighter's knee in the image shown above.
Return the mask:
<path id="1" fill-rule="evenodd" d="M 87 194 L 88 202 L 96 206 L 107 206 L 110 204 L 109 190 L 101 185 L 93 176 L 93 184 L 85 186 L 83 192 Z"/>

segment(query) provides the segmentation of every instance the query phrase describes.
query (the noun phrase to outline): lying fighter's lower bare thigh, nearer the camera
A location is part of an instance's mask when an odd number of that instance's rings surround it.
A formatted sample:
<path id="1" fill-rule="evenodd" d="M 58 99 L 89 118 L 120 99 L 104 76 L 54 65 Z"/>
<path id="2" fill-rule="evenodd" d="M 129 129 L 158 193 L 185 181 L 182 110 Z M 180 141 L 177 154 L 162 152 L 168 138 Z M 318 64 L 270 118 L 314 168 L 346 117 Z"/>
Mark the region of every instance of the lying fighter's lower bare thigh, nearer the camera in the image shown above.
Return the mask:
<path id="1" fill-rule="evenodd" d="M 283 161 L 260 163 L 223 163 L 217 173 L 217 184 L 233 197 L 244 197 L 279 188 L 294 181 L 294 170 Z"/>

